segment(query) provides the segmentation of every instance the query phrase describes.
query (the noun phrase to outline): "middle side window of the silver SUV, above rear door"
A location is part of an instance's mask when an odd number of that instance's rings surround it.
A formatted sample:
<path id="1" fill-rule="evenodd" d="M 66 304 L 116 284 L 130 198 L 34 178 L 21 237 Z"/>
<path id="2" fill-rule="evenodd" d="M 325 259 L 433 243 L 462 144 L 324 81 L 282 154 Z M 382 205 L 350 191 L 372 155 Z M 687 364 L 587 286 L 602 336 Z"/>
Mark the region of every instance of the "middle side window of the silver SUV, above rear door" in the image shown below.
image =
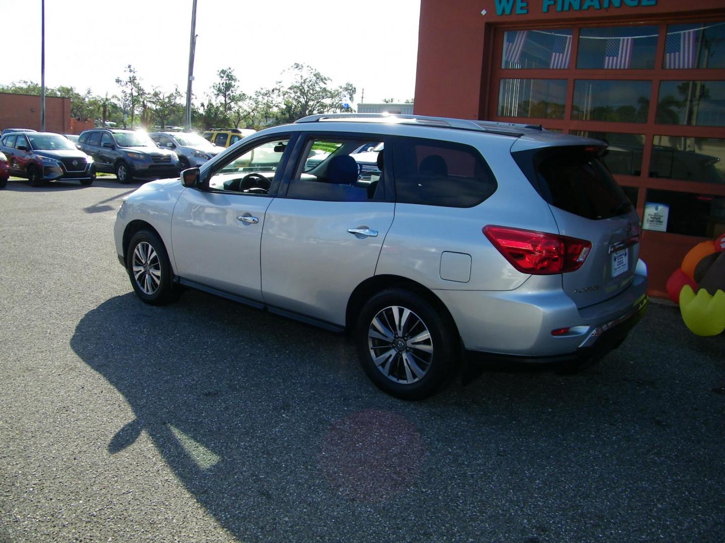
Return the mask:
<path id="1" fill-rule="evenodd" d="M 354 202 L 384 198 L 384 146 L 377 146 L 378 151 L 356 152 L 370 139 L 337 135 L 307 138 L 287 197 Z"/>

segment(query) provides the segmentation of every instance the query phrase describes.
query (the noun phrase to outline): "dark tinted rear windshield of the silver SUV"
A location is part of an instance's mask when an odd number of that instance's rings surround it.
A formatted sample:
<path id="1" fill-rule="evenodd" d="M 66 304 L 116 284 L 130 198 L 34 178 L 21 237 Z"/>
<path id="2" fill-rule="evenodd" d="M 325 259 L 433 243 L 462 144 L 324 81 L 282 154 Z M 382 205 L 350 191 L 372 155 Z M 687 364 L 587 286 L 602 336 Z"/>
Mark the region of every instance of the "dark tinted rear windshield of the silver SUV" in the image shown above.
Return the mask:
<path id="1" fill-rule="evenodd" d="M 602 148 L 555 147 L 513 153 L 531 185 L 552 206 L 586 219 L 628 213 L 631 202 L 610 174 Z"/>

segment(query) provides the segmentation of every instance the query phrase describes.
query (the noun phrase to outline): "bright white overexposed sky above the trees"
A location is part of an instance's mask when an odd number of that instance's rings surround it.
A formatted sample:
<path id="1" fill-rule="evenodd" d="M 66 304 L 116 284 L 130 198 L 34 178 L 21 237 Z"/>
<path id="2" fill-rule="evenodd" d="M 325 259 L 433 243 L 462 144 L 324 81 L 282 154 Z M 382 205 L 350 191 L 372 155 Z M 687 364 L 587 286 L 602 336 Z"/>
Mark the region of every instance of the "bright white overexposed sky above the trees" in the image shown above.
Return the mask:
<path id="1" fill-rule="evenodd" d="M 41 82 L 41 0 L 0 0 L 3 43 L 14 43 L 0 84 Z M 186 97 L 192 0 L 46 0 L 46 87 L 120 92 L 131 64 L 146 90 Z M 414 97 L 420 0 L 197 0 L 194 96 L 203 98 L 226 67 L 245 93 L 285 80 L 308 64 L 352 83 L 355 104 Z M 17 46 L 22 43 L 20 49 Z M 289 77 L 289 72 L 287 72 Z"/>

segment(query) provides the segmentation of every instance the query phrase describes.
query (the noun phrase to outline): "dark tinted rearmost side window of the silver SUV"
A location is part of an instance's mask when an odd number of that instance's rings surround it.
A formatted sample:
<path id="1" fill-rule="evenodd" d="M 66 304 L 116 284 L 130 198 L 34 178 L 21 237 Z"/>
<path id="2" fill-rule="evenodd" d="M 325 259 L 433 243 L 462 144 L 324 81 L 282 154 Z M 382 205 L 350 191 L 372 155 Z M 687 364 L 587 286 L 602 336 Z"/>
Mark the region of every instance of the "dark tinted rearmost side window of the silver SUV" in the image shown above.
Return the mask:
<path id="1" fill-rule="evenodd" d="M 463 143 L 394 138 L 393 172 L 400 203 L 473 207 L 498 186 L 481 153 Z"/>

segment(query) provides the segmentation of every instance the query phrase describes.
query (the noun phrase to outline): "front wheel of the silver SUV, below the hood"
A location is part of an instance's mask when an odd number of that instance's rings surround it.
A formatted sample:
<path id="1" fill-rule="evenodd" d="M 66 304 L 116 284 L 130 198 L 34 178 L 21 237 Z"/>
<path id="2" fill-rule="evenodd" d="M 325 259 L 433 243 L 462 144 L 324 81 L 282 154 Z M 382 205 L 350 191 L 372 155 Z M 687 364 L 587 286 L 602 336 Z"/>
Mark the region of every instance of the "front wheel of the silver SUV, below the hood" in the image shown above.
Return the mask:
<path id="1" fill-rule="evenodd" d="M 140 230 L 131 237 L 126 271 L 133 290 L 145 303 L 161 306 L 177 298 L 166 248 L 154 232 Z"/>

